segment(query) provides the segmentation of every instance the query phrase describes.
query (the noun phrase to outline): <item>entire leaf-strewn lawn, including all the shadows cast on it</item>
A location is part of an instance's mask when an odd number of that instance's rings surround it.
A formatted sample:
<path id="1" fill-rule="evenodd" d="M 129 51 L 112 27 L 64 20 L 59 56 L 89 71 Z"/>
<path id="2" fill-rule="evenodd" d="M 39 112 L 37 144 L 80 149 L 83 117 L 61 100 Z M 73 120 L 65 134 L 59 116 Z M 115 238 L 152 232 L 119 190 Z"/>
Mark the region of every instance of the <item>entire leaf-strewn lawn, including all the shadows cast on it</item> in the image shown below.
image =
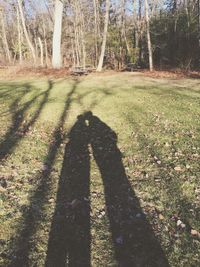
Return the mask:
<path id="1" fill-rule="evenodd" d="M 0 114 L 0 266 L 198 266 L 200 80 L 1 81 Z"/>

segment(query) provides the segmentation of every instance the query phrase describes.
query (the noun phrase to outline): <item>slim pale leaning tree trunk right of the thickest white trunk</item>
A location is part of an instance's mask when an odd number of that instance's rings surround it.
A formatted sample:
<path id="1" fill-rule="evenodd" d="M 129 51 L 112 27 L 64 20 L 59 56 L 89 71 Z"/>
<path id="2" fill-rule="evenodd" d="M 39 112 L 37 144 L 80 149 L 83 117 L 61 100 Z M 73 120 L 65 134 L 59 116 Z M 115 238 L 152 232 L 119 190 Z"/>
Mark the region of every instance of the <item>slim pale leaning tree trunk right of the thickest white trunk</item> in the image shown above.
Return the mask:
<path id="1" fill-rule="evenodd" d="M 103 42 L 101 46 L 101 55 L 99 58 L 97 71 L 102 71 L 102 67 L 103 67 L 103 60 L 104 60 L 104 55 L 105 55 L 106 39 L 107 39 L 107 32 L 108 32 L 109 10 L 110 10 L 110 0 L 106 0 L 106 14 L 105 14 L 105 23 L 104 23 L 104 32 L 103 32 Z"/>

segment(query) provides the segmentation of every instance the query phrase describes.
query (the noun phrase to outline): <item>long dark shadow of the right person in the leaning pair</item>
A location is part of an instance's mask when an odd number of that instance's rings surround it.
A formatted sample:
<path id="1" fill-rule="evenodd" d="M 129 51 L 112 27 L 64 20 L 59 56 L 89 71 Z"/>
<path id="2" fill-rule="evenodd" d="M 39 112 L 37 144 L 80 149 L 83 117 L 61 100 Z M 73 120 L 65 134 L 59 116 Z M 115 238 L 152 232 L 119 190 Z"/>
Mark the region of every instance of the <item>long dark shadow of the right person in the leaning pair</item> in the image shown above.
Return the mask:
<path id="1" fill-rule="evenodd" d="M 104 184 L 115 256 L 119 266 L 166 267 L 168 261 L 156 240 L 126 176 L 116 133 L 91 112 L 90 142 Z"/>

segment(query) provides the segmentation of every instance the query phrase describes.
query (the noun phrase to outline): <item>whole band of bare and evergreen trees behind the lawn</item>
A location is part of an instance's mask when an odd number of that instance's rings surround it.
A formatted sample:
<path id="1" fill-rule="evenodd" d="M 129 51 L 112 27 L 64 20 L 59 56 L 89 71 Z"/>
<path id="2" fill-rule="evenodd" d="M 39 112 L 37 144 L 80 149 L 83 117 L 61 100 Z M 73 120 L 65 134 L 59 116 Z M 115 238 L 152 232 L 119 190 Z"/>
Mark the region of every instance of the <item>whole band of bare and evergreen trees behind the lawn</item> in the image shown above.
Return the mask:
<path id="1" fill-rule="evenodd" d="M 0 0 L 0 64 L 198 68 L 200 0 Z"/>

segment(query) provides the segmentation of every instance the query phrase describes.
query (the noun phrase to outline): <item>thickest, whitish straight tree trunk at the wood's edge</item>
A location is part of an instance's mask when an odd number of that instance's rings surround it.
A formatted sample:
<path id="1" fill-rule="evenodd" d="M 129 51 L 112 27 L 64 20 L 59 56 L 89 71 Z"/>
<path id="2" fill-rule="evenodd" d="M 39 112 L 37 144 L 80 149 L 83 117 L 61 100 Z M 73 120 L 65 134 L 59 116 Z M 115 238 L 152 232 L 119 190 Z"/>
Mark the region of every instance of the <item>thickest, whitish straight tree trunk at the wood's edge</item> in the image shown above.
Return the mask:
<path id="1" fill-rule="evenodd" d="M 61 2 L 60 0 L 55 0 L 53 56 L 52 56 L 52 66 L 55 69 L 59 69 L 62 67 L 61 36 L 62 36 L 63 7 L 64 7 L 63 2 Z"/>

